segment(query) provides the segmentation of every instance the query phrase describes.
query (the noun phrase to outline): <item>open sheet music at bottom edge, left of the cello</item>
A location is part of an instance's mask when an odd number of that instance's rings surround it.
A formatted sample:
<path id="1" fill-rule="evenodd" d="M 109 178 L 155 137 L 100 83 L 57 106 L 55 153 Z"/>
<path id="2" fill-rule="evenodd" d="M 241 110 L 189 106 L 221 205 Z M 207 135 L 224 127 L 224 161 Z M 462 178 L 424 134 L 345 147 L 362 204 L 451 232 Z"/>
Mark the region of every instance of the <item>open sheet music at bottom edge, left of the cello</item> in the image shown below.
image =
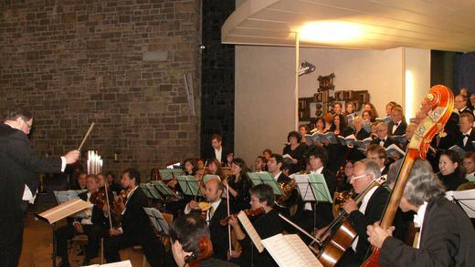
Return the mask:
<path id="1" fill-rule="evenodd" d="M 262 244 L 280 267 L 323 267 L 297 234 L 276 234 Z"/>

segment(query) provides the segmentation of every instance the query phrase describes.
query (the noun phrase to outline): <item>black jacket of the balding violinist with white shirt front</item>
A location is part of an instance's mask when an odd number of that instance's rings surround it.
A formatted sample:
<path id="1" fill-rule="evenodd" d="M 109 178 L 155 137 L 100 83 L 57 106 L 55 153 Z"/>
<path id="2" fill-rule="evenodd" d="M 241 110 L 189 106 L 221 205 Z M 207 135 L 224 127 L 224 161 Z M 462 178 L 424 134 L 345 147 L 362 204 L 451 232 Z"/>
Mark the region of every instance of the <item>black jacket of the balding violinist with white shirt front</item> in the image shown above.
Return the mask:
<path id="1" fill-rule="evenodd" d="M 227 239 L 227 226 L 221 226 L 219 221 L 227 217 L 227 200 L 221 199 L 217 206 L 213 217 L 209 221 L 209 231 L 211 234 L 211 242 L 213 243 L 213 257 L 216 259 L 227 261 L 227 251 L 229 249 L 229 241 Z"/>

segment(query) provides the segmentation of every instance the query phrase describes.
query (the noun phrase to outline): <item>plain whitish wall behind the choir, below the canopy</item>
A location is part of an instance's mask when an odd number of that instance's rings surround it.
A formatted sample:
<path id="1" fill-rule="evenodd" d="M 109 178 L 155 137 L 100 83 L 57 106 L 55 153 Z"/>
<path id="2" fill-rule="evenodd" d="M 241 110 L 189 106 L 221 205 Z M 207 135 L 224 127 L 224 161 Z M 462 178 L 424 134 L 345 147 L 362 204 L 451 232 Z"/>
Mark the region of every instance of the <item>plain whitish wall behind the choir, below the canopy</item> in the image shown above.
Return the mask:
<path id="1" fill-rule="evenodd" d="M 417 87 L 428 90 L 430 51 L 418 50 L 301 48 L 301 61 L 311 62 L 316 70 L 300 77 L 299 96 L 311 97 L 317 77 L 334 73 L 337 90 L 367 89 L 380 116 L 385 115 L 390 100 L 404 104 L 406 65 L 424 76 Z M 236 46 L 235 155 L 248 165 L 263 149 L 281 153 L 294 128 L 294 67 L 292 47 Z"/>

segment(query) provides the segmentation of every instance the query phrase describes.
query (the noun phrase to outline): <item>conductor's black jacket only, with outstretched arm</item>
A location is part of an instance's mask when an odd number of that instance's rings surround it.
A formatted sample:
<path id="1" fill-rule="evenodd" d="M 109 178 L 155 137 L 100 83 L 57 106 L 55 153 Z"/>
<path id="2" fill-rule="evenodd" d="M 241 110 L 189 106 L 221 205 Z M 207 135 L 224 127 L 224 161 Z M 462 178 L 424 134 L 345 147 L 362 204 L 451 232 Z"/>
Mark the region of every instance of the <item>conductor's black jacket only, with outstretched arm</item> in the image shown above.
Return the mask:
<path id="1" fill-rule="evenodd" d="M 11 211 L 21 212 L 25 185 L 35 196 L 39 172 L 61 172 L 61 159 L 38 157 L 23 131 L 0 123 L 0 202 Z"/>

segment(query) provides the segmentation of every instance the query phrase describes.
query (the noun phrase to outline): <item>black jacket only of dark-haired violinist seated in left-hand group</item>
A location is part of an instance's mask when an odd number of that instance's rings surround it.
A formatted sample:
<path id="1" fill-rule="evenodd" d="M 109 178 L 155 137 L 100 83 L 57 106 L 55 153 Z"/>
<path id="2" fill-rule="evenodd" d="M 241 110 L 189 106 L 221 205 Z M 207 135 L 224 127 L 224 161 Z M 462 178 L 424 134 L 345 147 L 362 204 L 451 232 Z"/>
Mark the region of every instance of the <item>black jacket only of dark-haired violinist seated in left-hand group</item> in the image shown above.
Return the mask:
<path id="1" fill-rule="evenodd" d="M 150 219 L 143 208 L 148 207 L 148 200 L 140 187 L 132 193 L 125 204 L 125 211 L 121 218 L 123 234 L 132 237 L 141 237 L 152 234 L 153 228 Z"/>

